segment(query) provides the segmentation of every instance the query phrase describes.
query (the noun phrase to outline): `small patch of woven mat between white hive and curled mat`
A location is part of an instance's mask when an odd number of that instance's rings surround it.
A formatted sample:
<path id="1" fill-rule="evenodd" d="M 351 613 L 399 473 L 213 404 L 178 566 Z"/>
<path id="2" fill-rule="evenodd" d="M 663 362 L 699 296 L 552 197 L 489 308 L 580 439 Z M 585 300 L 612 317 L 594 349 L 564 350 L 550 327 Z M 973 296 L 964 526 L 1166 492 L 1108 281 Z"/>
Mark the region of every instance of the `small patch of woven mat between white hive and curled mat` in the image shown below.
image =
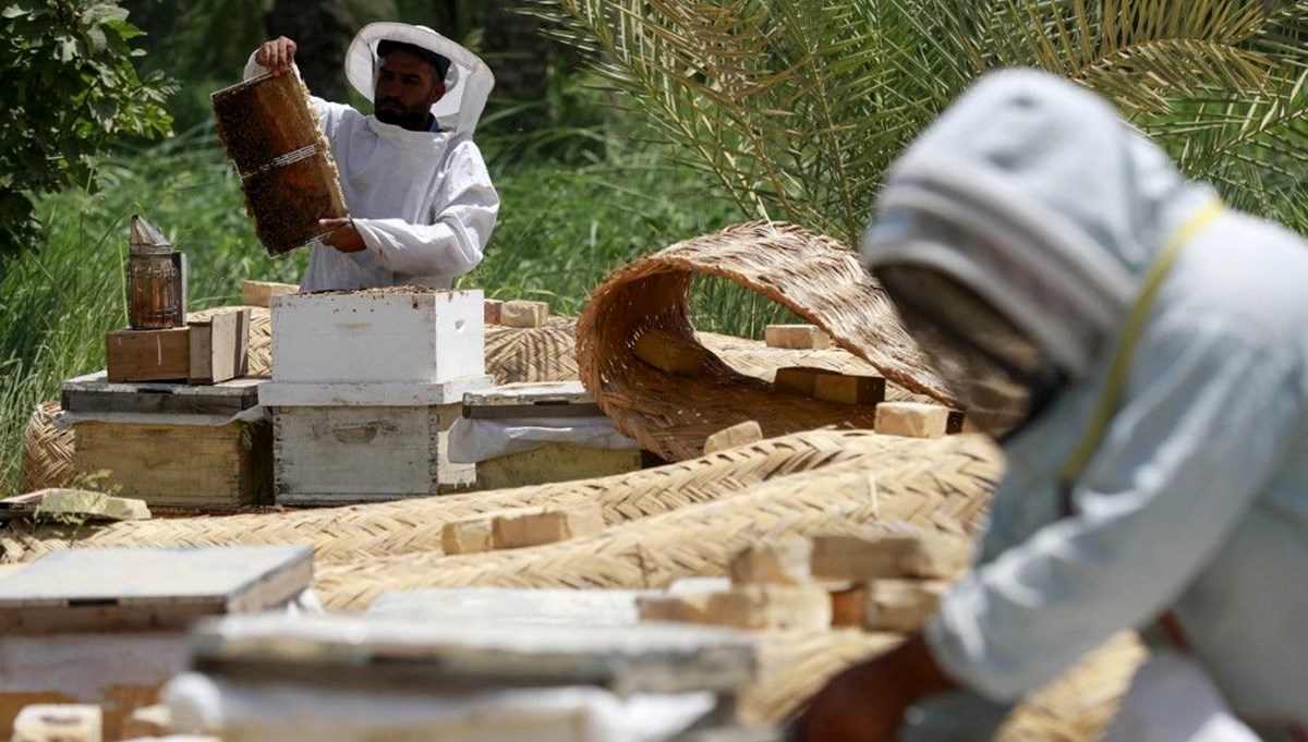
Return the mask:
<path id="1" fill-rule="evenodd" d="M 545 327 L 487 325 L 487 374 L 496 384 L 577 379 L 577 319 L 549 317 Z"/>

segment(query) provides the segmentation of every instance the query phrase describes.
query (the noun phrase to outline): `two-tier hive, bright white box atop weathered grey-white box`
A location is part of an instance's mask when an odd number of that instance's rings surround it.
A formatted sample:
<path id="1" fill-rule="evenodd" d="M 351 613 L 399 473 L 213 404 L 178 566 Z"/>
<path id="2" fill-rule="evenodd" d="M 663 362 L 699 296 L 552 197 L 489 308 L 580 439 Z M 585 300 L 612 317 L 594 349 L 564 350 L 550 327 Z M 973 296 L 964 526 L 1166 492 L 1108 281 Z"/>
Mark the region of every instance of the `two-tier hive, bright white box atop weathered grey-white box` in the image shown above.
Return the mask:
<path id="1" fill-rule="evenodd" d="M 281 504 L 426 496 L 473 483 L 447 431 L 489 387 L 481 291 L 422 287 L 273 297 L 273 490 Z"/>

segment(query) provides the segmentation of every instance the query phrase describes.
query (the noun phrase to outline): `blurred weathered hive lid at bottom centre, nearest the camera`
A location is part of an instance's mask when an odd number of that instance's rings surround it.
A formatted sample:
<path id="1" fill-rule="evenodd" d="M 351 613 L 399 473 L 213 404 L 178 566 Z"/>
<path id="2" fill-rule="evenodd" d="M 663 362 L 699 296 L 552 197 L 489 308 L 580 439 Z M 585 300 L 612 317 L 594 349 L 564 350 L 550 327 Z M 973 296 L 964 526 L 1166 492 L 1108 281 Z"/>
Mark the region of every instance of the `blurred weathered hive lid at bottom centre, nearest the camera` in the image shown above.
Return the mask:
<path id="1" fill-rule="evenodd" d="M 755 671 L 743 632 L 678 624 L 532 626 L 383 615 L 207 619 L 192 632 L 199 670 L 303 683 L 403 682 L 429 691 L 599 686 L 727 692 Z"/>

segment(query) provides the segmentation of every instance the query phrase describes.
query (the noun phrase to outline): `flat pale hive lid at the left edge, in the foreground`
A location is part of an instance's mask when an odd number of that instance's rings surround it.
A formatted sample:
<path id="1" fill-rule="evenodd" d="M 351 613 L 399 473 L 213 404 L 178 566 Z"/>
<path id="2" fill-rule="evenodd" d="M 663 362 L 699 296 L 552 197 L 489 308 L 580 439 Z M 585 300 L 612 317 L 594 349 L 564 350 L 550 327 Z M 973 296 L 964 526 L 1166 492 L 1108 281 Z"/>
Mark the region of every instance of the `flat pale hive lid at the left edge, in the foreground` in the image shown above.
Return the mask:
<path id="1" fill-rule="evenodd" d="M 307 546 L 71 549 L 0 575 L 0 634 L 184 628 L 309 588 Z"/>

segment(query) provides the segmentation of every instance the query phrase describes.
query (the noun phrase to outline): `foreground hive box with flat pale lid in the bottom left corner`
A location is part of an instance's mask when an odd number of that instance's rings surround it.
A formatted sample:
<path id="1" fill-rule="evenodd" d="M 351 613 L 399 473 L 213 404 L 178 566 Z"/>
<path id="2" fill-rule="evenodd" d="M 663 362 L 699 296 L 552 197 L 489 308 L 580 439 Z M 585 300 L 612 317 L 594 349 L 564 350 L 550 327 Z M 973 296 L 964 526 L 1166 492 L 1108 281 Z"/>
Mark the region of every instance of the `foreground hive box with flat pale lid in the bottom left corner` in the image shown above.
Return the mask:
<path id="1" fill-rule="evenodd" d="M 29 704 L 99 705 L 105 739 L 191 662 L 200 617 L 284 609 L 307 546 L 75 549 L 0 575 L 0 738 Z"/>

